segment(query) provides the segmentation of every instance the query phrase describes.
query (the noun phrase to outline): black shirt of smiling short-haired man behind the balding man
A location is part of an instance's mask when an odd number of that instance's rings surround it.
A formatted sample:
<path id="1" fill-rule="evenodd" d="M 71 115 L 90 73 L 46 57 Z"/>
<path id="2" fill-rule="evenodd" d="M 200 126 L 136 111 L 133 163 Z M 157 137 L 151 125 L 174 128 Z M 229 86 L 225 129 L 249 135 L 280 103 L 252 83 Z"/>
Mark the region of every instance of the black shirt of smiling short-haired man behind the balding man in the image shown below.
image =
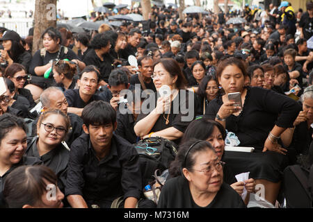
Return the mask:
<path id="1" fill-rule="evenodd" d="M 87 103 L 85 103 L 81 99 L 81 96 L 79 96 L 79 89 L 67 89 L 64 93 L 64 96 L 67 100 L 68 107 L 74 107 L 74 108 L 84 108 L 86 105 L 88 105 L 92 101 L 98 101 L 100 99 L 98 95 L 93 94 L 90 100 Z"/>

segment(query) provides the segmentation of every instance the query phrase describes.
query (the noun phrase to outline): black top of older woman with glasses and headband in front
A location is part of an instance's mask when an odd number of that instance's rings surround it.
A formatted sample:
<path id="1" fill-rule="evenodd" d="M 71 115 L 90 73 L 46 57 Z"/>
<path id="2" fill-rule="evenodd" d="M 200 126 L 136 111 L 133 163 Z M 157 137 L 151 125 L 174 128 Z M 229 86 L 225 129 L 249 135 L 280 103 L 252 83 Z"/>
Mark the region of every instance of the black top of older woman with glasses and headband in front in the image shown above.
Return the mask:
<path id="1" fill-rule="evenodd" d="M 223 182 L 214 199 L 206 207 L 198 206 L 191 195 L 188 181 L 182 176 L 170 178 L 163 186 L 158 208 L 246 208 L 239 194 Z"/>

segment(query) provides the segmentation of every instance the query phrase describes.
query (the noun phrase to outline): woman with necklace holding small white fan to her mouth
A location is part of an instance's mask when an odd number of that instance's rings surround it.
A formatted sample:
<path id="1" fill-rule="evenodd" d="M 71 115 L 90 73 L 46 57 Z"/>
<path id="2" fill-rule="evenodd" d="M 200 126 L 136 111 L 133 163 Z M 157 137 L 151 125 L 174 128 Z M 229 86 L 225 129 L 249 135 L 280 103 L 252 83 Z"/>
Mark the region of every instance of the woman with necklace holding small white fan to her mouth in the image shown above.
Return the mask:
<path id="1" fill-rule="evenodd" d="M 141 138 L 163 137 L 178 144 L 188 123 L 195 118 L 194 94 L 181 90 L 186 89 L 186 79 L 174 59 L 161 58 L 154 63 L 153 69 L 152 79 L 157 92 L 148 98 L 152 103 L 148 112 L 141 109 L 134 131 Z M 170 87 L 169 96 L 158 96 L 163 85 Z"/>

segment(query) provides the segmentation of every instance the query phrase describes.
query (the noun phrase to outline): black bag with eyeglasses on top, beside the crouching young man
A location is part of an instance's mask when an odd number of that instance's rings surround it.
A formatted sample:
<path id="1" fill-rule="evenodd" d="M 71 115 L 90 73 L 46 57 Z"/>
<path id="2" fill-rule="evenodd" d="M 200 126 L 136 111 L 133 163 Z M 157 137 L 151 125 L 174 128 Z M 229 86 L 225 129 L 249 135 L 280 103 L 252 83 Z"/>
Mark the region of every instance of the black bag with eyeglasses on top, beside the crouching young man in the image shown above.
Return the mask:
<path id="1" fill-rule="evenodd" d="M 155 180 L 154 172 L 157 169 L 161 172 L 168 169 L 177 155 L 177 145 L 162 137 L 142 139 L 135 144 L 135 148 L 139 154 L 143 186 Z"/>

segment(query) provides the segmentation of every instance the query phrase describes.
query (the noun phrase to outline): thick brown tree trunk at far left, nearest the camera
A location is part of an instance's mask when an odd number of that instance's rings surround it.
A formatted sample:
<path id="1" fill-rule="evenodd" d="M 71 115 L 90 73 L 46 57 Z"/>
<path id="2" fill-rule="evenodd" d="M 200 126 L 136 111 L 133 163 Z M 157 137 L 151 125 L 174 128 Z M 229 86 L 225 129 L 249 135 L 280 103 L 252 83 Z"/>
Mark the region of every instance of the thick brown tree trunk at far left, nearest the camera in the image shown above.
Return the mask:
<path id="1" fill-rule="evenodd" d="M 33 53 L 42 48 L 41 35 L 46 28 L 56 28 L 56 0 L 36 0 L 33 28 Z"/>

